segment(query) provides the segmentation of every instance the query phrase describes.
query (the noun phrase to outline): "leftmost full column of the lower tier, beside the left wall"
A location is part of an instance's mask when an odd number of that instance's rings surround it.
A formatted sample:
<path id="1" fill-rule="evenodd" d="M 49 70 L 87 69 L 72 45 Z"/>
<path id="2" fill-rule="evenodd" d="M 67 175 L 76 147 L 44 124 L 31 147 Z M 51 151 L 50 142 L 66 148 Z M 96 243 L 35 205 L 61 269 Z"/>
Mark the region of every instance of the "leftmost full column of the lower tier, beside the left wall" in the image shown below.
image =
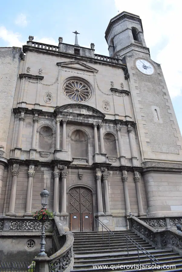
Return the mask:
<path id="1" fill-rule="evenodd" d="M 16 199 L 16 185 L 17 185 L 17 177 L 19 174 L 18 170 L 19 165 L 15 165 L 12 170 L 12 183 L 11 183 L 11 194 L 10 194 L 10 201 L 9 201 L 9 211 L 7 215 L 15 215 L 15 199 Z"/>

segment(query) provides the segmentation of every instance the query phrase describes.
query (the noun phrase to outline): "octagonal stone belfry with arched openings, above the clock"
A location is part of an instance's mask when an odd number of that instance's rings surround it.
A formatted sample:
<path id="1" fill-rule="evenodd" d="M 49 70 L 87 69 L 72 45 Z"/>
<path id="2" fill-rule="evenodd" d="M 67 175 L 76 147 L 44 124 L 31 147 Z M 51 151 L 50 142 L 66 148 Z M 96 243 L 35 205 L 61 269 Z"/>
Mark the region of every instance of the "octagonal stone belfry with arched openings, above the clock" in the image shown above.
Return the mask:
<path id="1" fill-rule="evenodd" d="M 149 54 L 138 15 L 123 11 L 112 18 L 106 29 L 105 38 L 110 57 L 117 57 L 117 54 L 123 57 L 131 50 Z"/>

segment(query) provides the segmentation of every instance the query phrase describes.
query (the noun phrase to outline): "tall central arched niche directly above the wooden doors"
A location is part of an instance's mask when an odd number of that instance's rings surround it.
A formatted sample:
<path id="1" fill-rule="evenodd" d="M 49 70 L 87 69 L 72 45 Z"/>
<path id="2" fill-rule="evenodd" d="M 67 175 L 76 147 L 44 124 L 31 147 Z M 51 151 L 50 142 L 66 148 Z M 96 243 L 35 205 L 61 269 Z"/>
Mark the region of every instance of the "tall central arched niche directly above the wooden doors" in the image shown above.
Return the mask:
<path id="1" fill-rule="evenodd" d="M 88 157 L 88 137 L 79 129 L 71 134 L 71 157 Z"/>

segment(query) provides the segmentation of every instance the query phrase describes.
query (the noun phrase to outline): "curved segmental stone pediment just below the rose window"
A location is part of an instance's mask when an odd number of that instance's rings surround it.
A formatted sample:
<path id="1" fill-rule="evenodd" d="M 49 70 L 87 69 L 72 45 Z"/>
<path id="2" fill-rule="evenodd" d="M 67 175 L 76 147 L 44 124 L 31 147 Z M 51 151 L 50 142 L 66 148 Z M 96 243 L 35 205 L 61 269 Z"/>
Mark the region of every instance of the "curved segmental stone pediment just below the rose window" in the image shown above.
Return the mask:
<path id="1" fill-rule="evenodd" d="M 96 108 L 93 108 L 88 105 L 83 104 L 67 104 L 60 107 L 55 108 L 55 112 L 69 112 L 69 113 L 78 113 L 83 115 L 94 115 L 98 117 L 104 118 L 106 115 L 97 110 Z"/>

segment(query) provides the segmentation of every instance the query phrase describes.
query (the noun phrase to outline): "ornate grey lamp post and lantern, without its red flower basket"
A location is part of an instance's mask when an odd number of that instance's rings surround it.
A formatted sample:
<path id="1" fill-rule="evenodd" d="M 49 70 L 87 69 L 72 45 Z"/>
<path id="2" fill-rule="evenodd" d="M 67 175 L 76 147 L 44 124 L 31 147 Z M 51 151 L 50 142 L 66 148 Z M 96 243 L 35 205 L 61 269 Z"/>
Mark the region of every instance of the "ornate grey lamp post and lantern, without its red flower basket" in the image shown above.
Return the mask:
<path id="1" fill-rule="evenodd" d="M 44 190 L 40 193 L 41 196 L 41 203 L 43 206 L 43 209 L 46 209 L 46 205 L 47 205 L 47 200 L 49 197 L 50 193 L 46 190 L 46 188 L 44 188 Z M 41 250 L 40 253 L 38 254 L 38 256 L 47 256 L 47 254 L 45 253 L 45 248 L 44 245 L 46 244 L 45 242 L 45 222 L 42 222 L 42 232 L 41 232 Z"/>

